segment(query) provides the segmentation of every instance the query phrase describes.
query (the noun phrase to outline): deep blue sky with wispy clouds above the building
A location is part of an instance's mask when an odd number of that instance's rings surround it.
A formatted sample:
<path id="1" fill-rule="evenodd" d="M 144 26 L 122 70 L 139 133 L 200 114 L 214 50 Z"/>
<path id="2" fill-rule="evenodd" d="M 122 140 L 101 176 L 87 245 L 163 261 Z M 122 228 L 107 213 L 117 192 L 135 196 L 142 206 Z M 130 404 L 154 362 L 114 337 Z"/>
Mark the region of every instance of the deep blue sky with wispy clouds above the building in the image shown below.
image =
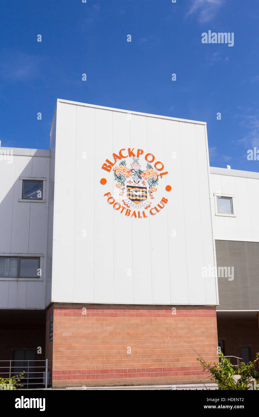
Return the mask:
<path id="1" fill-rule="evenodd" d="M 211 166 L 259 171 L 258 2 L 2 0 L 0 15 L 1 146 L 48 149 L 62 98 L 205 121 Z M 234 46 L 203 44 L 209 30 Z"/>

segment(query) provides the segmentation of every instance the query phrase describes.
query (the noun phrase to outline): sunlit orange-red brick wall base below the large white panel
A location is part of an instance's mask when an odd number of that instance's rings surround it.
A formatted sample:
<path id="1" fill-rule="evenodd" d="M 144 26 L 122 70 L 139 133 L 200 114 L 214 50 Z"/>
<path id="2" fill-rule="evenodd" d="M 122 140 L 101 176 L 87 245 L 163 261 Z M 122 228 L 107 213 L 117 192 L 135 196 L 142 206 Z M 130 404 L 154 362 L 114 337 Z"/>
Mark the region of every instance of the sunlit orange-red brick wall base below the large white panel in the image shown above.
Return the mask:
<path id="1" fill-rule="evenodd" d="M 200 382 L 216 348 L 215 309 L 54 304 L 52 385 Z"/>

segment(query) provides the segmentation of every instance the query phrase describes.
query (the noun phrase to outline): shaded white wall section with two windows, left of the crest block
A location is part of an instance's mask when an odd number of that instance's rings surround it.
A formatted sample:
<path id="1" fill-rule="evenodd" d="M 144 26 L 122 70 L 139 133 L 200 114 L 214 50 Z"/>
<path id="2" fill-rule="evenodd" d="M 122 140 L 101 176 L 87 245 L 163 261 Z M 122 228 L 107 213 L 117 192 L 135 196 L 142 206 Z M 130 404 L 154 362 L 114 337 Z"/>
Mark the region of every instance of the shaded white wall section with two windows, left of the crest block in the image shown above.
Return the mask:
<path id="1" fill-rule="evenodd" d="M 47 178 L 46 203 L 19 202 L 20 177 Z M 48 177 L 49 151 L 0 148 L 0 256 L 44 255 L 41 279 L 0 278 L 0 308 L 45 308 Z"/>

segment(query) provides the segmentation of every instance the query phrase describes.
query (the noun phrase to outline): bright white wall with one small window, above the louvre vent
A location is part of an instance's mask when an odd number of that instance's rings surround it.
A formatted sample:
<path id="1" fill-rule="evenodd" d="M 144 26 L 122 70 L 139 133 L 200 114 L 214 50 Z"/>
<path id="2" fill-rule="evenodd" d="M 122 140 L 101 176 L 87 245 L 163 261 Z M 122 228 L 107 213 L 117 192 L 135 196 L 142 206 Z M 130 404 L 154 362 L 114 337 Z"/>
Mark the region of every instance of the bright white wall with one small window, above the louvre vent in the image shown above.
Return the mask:
<path id="1" fill-rule="evenodd" d="M 215 168 L 211 168 L 214 170 Z M 217 168 L 220 172 L 220 168 Z M 249 172 L 239 175 L 210 174 L 210 192 L 214 239 L 259 242 L 259 178 L 249 178 Z M 235 174 L 238 171 L 234 171 Z M 252 174 L 252 175 L 251 175 Z M 250 173 L 254 176 L 254 173 Z M 214 193 L 233 196 L 235 217 L 215 215 Z"/>

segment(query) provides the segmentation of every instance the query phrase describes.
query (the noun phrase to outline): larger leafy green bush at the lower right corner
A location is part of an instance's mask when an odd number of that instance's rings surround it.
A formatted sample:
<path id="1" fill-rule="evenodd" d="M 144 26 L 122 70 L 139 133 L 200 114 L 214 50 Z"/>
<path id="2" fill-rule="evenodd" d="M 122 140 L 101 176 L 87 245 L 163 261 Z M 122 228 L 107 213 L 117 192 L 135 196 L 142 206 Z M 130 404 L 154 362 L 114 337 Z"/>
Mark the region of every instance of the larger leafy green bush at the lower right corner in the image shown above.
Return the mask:
<path id="1" fill-rule="evenodd" d="M 201 357 L 197 358 L 203 367 L 203 370 L 208 370 L 211 374 L 211 380 L 218 385 L 222 390 L 248 390 L 251 389 L 251 384 L 259 383 L 259 353 L 254 362 L 245 364 L 239 362 L 239 366 L 235 367 L 230 360 L 222 354 L 219 354 L 221 362 L 213 362 L 213 365 L 207 363 Z M 234 378 L 236 376 L 236 378 Z"/>

